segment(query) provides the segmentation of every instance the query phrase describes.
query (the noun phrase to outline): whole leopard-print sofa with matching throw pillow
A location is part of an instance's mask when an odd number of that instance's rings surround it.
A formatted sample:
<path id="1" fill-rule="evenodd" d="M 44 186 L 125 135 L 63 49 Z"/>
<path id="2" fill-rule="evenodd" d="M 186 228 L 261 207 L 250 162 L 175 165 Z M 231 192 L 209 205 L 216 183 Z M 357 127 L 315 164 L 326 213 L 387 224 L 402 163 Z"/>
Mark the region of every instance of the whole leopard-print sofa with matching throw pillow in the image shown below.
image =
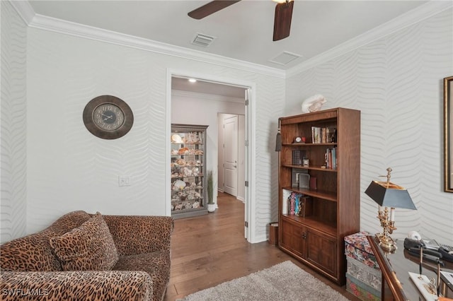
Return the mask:
<path id="1" fill-rule="evenodd" d="M 73 211 L 0 246 L 1 300 L 164 300 L 168 216 Z"/>

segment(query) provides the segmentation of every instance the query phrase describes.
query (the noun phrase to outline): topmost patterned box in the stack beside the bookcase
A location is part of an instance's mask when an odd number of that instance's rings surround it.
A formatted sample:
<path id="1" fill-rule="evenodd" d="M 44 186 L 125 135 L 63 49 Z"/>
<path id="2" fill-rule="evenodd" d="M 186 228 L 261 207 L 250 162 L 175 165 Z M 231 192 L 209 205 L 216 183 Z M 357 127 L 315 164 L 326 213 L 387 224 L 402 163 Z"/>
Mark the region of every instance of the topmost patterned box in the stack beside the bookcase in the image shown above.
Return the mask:
<path id="1" fill-rule="evenodd" d="M 346 258 L 351 257 L 366 266 L 379 269 L 376 256 L 374 256 L 372 249 L 369 246 L 367 235 L 369 235 L 369 233 L 364 231 L 345 237 Z"/>

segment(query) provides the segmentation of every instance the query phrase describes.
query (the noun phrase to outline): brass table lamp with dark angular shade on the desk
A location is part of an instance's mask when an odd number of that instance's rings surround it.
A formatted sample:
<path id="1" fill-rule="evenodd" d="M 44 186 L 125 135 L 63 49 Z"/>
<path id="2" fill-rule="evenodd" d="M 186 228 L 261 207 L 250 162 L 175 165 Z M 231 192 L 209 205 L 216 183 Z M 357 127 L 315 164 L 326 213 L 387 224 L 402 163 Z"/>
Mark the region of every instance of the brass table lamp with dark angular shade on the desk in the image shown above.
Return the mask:
<path id="1" fill-rule="evenodd" d="M 391 168 L 387 168 L 386 182 L 372 181 L 365 194 L 367 194 L 378 205 L 377 218 L 383 228 L 382 233 L 377 233 L 379 245 L 382 249 L 392 252 L 396 249 L 395 241 L 389 236 L 396 230 L 395 227 L 395 208 L 417 209 L 409 196 L 408 191 L 390 182 Z M 384 211 L 382 211 L 384 207 Z M 390 208 L 390 214 L 389 214 Z"/>

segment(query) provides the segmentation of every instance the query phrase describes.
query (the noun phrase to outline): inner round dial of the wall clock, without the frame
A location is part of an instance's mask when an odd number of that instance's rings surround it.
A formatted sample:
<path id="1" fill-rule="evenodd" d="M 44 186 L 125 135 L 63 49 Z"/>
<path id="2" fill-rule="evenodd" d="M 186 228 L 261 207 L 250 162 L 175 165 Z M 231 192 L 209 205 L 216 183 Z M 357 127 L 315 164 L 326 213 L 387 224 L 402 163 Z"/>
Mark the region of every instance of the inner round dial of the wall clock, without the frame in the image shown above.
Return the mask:
<path id="1" fill-rule="evenodd" d="M 115 131 L 125 122 L 125 113 L 117 105 L 103 103 L 94 110 L 93 121 L 99 129 Z"/>

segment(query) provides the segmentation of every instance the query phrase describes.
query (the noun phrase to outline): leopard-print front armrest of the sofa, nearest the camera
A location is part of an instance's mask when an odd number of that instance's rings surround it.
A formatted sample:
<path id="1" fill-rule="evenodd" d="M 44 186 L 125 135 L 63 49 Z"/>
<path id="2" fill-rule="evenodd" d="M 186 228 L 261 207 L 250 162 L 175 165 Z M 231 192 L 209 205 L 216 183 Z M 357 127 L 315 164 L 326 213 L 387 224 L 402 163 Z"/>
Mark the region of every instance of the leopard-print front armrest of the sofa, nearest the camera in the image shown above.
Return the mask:
<path id="1" fill-rule="evenodd" d="M 1 272 L 0 299 L 152 300 L 144 271 Z"/>

